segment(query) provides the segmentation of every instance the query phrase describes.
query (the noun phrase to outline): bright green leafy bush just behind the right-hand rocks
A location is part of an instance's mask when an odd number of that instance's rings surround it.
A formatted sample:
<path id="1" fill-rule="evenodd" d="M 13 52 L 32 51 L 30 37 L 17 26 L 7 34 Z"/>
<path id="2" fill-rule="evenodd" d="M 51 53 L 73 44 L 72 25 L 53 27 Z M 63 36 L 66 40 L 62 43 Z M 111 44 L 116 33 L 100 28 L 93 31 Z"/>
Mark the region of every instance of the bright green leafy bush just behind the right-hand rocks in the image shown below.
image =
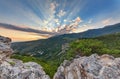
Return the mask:
<path id="1" fill-rule="evenodd" d="M 102 54 L 102 49 L 105 48 L 106 45 L 99 40 L 94 39 L 82 39 L 77 40 L 70 43 L 70 48 L 67 51 L 66 57 L 70 59 L 71 57 L 78 55 L 86 55 L 89 56 L 93 53 Z"/>

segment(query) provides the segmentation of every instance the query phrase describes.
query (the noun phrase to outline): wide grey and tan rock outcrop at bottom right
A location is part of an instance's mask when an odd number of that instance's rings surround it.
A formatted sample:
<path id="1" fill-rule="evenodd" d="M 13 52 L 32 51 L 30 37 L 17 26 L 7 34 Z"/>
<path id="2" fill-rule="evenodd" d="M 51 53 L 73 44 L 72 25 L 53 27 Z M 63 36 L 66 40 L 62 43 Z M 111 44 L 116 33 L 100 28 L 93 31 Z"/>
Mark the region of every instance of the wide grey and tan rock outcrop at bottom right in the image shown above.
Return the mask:
<path id="1" fill-rule="evenodd" d="M 65 60 L 54 79 L 120 79 L 120 58 L 93 54 L 72 61 Z"/>

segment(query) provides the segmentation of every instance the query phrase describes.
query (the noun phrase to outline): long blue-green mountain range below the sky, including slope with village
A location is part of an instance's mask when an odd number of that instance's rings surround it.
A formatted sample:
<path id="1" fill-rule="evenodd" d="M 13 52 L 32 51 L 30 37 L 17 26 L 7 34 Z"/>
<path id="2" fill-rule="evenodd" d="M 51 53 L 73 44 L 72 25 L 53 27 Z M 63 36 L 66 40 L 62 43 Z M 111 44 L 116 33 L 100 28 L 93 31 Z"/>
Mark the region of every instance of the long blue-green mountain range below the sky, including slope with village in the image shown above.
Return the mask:
<path id="1" fill-rule="evenodd" d="M 64 34 L 48 39 L 29 42 L 13 43 L 12 48 L 24 55 L 32 55 L 48 59 L 56 56 L 62 49 L 62 45 L 79 38 L 92 38 L 120 32 L 120 23 L 109 25 L 104 28 L 91 29 L 81 33 Z"/>

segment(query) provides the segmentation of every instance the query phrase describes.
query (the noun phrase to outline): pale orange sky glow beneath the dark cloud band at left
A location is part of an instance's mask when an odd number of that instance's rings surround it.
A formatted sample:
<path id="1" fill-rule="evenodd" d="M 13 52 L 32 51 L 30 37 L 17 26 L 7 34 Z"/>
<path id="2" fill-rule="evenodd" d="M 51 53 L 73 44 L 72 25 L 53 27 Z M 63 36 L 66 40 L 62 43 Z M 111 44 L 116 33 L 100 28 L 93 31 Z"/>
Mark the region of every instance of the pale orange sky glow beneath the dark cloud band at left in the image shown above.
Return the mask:
<path id="1" fill-rule="evenodd" d="M 13 42 L 48 38 L 44 36 L 39 36 L 35 33 L 21 32 L 4 28 L 0 28 L 0 35 L 11 38 Z"/>

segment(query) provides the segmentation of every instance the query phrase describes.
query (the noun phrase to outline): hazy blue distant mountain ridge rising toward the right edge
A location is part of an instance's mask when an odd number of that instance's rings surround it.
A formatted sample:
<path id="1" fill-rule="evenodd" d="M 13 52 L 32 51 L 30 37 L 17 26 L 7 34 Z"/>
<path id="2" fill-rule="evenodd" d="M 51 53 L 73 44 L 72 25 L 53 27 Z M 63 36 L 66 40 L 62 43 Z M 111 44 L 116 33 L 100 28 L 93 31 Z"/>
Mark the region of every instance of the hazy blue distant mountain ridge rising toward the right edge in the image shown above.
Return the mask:
<path id="1" fill-rule="evenodd" d="M 64 34 L 60 36 L 66 36 L 70 38 L 91 38 L 91 37 L 118 33 L 118 32 L 120 32 L 120 23 L 117 23 L 114 25 L 108 25 L 98 29 L 89 29 L 87 31 L 80 32 L 80 33 Z"/>

